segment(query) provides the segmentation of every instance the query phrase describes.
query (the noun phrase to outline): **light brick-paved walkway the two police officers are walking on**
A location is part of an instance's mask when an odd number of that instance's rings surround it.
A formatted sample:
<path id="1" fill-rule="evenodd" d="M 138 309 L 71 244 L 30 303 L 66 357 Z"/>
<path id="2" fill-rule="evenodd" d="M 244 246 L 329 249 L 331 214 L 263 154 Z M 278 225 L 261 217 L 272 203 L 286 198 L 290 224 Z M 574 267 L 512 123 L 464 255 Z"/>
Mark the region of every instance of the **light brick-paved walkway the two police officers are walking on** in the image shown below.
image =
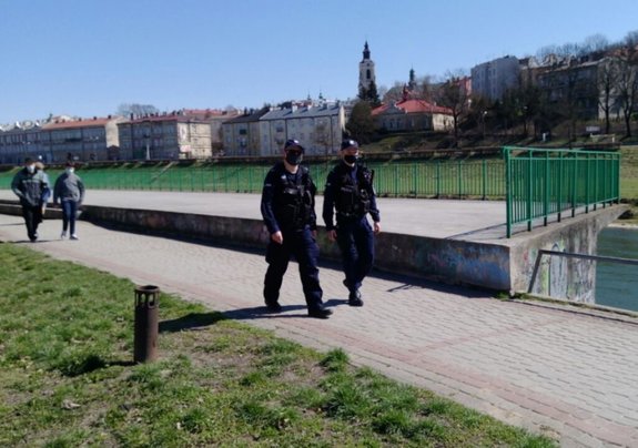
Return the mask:
<path id="1" fill-rule="evenodd" d="M 80 241 L 60 241 L 60 227 L 45 221 L 40 242 L 31 244 L 20 217 L 0 215 L 0 241 L 159 285 L 321 350 L 342 347 L 357 365 L 563 446 L 638 446 L 638 319 L 504 302 L 397 276 L 366 279 L 365 306 L 352 308 L 334 265 L 321 269 L 324 298 L 335 312 L 328 320 L 306 317 L 294 265 L 282 287 L 284 313 L 270 315 L 261 306 L 262 254 L 85 222 L 79 223 Z"/>

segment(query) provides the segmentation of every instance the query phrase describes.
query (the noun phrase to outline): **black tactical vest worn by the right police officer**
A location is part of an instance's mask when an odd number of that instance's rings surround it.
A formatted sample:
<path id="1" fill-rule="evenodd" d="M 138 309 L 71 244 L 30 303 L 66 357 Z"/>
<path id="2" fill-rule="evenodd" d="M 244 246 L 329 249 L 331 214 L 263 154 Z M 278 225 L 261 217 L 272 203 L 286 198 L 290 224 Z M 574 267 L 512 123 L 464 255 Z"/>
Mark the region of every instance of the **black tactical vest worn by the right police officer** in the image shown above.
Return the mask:
<path id="1" fill-rule="evenodd" d="M 373 172 L 364 166 L 357 166 L 356 181 L 351 173 L 342 170 L 337 174 L 337 191 L 335 208 L 337 216 L 363 217 L 369 212 Z"/>

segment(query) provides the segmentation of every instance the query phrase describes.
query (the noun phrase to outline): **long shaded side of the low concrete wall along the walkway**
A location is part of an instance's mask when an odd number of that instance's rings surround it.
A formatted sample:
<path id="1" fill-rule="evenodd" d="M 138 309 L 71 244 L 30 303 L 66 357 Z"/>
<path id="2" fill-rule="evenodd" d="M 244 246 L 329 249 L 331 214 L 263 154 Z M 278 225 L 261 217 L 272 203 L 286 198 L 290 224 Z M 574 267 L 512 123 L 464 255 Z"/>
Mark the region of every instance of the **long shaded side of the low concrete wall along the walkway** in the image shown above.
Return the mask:
<path id="1" fill-rule="evenodd" d="M 82 217 L 257 250 L 264 250 L 270 237 L 260 220 L 98 206 L 85 206 Z M 322 257 L 340 259 L 336 243 L 327 240 L 323 228 L 320 228 L 317 243 Z M 376 238 L 375 250 L 375 265 L 387 272 L 450 284 L 509 289 L 509 250 L 506 246 L 382 233 Z"/>

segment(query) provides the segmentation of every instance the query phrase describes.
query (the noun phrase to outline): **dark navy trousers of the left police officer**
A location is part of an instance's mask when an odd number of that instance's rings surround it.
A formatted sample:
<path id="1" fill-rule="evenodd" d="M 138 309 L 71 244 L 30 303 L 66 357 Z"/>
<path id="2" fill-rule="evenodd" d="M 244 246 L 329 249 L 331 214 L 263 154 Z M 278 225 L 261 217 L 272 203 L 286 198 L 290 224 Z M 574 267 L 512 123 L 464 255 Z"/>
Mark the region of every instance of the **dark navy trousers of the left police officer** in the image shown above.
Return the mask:
<path id="1" fill-rule="evenodd" d="M 266 248 L 269 268 L 264 278 L 264 299 L 275 304 L 280 298 L 284 274 L 292 256 L 298 263 L 304 296 L 310 309 L 321 308 L 323 291 L 318 279 L 318 246 L 308 227 L 301 231 L 283 232 L 283 244 L 271 241 Z"/>

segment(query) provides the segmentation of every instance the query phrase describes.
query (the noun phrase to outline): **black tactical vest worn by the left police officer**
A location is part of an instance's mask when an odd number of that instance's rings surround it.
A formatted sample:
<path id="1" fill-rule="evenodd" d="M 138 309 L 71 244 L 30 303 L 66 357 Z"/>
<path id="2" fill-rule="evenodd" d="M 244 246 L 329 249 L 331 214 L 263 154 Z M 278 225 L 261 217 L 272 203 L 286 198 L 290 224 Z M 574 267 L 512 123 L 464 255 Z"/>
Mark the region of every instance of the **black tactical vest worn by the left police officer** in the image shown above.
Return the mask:
<path id="1" fill-rule="evenodd" d="M 277 176 L 275 193 L 275 217 L 283 228 L 298 230 L 310 223 L 313 207 L 313 192 L 308 170 L 300 166 L 302 175 L 290 180 L 282 170 Z"/>

